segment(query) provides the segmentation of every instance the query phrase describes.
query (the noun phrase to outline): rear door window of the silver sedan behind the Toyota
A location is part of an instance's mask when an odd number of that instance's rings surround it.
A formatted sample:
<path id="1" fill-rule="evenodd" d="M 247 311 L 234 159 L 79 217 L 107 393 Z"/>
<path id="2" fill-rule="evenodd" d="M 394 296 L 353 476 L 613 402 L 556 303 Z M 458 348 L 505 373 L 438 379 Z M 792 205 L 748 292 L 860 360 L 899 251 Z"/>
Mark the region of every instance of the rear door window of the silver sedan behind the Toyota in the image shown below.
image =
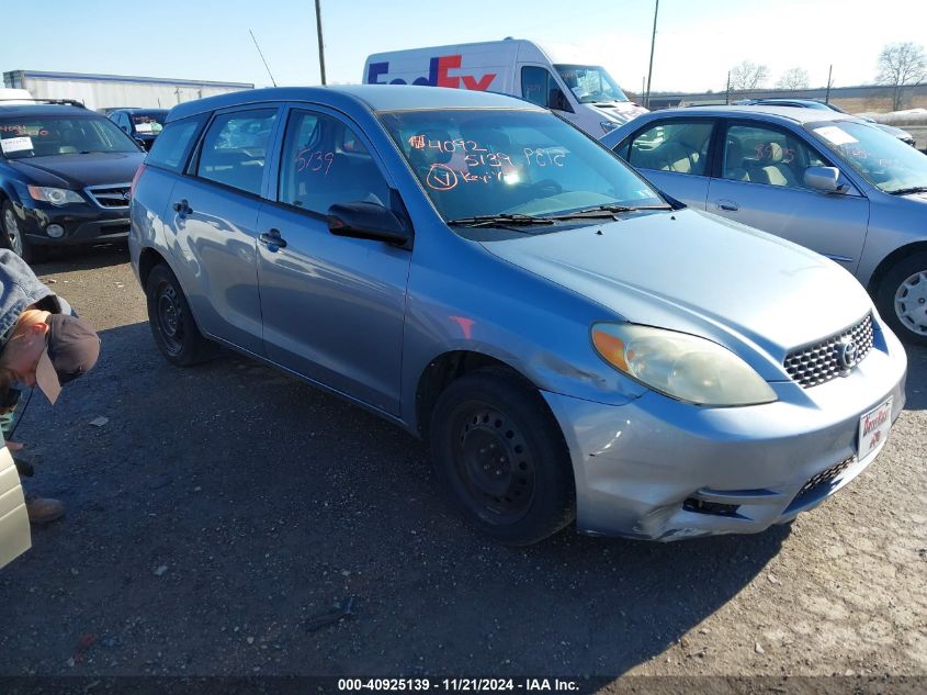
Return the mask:
<path id="1" fill-rule="evenodd" d="M 641 131 L 631 142 L 628 164 L 640 169 L 706 175 L 714 122 L 663 122 Z"/>

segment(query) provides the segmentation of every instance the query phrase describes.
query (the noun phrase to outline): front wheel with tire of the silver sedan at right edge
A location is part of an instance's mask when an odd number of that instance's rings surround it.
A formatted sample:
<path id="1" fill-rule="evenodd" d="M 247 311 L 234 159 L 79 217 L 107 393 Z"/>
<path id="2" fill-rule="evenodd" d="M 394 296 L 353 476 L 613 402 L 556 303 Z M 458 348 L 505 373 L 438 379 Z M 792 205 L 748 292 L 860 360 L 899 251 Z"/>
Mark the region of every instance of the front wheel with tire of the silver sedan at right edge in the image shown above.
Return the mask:
<path id="1" fill-rule="evenodd" d="M 927 253 L 895 264 L 879 284 L 875 304 L 898 338 L 927 345 Z"/>

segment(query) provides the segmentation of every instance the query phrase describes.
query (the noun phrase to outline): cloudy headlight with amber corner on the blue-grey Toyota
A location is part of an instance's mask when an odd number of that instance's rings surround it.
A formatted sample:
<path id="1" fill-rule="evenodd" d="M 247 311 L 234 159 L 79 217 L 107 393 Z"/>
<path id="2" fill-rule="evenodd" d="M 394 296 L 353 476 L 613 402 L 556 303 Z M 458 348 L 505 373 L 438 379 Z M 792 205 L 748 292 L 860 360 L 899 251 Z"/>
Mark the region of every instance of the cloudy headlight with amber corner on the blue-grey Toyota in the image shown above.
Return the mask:
<path id="1" fill-rule="evenodd" d="M 664 395 L 698 405 L 771 403 L 776 392 L 739 357 L 686 333 L 600 323 L 592 344 L 609 365 Z"/>

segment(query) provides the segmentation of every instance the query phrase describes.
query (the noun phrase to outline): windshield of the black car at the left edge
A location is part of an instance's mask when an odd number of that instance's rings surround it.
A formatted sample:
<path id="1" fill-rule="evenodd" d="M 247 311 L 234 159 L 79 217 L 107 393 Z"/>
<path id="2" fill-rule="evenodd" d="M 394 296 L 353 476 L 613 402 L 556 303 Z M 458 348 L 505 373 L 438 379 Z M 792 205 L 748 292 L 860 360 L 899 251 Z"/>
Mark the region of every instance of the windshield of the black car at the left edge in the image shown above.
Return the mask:
<path id="1" fill-rule="evenodd" d="M 23 116 L 0 119 L 0 150 L 7 159 L 138 152 L 112 121 L 103 116 Z"/>

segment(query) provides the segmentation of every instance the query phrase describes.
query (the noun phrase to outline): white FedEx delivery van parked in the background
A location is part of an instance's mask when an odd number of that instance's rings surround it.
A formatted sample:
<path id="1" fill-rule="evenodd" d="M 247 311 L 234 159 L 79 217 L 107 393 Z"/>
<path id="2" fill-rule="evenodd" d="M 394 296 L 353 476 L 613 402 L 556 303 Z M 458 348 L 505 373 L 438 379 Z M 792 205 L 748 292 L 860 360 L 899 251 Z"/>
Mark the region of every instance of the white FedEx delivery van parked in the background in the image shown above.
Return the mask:
<path id="1" fill-rule="evenodd" d="M 366 59 L 364 85 L 428 85 L 520 97 L 552 109 L 593 137 L 647 113 L 598 65 L 573 46 L 521 38 L 377 53 Z"/>

